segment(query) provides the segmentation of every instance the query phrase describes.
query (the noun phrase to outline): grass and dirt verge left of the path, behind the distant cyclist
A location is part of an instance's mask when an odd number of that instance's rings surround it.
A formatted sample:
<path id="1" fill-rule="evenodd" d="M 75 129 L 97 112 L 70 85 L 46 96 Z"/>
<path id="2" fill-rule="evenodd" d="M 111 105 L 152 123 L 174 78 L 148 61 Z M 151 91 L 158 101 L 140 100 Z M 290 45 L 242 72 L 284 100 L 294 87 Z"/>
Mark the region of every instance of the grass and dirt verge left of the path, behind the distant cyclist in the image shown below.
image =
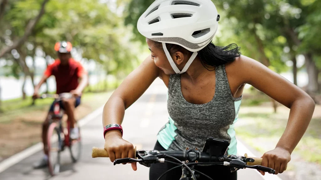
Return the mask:
<path id="1" fill-rule="evenodd" d="M 76 119 L 82 119 L 105 104 L 110 95 L 111 93 L 83 94 L 81 105 L 75 110 Z M 42 122 L 51 102 L 37 100 L 35 106 L 0 114 L 0 161 L 41 141 Z"/>

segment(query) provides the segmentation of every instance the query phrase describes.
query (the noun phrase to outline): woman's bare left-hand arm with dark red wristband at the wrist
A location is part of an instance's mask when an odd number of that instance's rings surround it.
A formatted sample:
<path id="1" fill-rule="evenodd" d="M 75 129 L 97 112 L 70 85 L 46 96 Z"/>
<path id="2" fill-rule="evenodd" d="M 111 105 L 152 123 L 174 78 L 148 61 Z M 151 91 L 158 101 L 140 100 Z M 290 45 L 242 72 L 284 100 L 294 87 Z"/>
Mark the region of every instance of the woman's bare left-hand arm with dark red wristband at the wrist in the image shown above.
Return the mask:
<path id="1" fill-rule="evenodd" d="M 160 75 L 160 69 L 157 68 L 151 56 L 148 56 L 137 69 L 127 76 L 107 101 L 102 116 L 103 126 L 121 124 L 125 110 L 131 106 Z M 134 158 L 133 144 L 124 140 L 119 130 L 111 130 L 106 133 L 105 149 L 112 162 L 120 158 Z M 137 169 L 136 163 L 132 163 L 132 168 L 134 170 Z"/>

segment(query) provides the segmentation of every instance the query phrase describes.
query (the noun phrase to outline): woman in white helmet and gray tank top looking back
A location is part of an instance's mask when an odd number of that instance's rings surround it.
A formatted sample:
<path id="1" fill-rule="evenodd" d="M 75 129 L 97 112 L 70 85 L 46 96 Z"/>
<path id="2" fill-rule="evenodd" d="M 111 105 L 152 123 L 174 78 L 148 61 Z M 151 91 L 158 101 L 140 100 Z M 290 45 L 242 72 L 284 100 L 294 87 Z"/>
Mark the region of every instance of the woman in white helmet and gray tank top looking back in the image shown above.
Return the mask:
<path id="1" fill-rule="evenodd" d="M 234 123 L 244 86 L 250 84 L 291 109 L 275 149 L 262 156 L 262 165 L 275 169 L 275 174 L 286 169 L 315 103 L 285 78 L 241 55 L 237 45 L 219 47 L 211 43 L 219 20 L 211 0 L 156 0 L 143 13 L 137 28 L 146 37 L 151 55 L 117 88 L 103 111 L 105 149 L 111 161 L 134 157 L 133 145 L 122 139 L 120 124 L 126 108 L 159 77 L 168 87 L 170 117 L 157 135 L 155 149 L 200 148 L 207 137 L 214 137 L 229 141 L 228 154 L 236 154 Z M 150 180 L 174 166 L 153 164 Z M 132 168 L 136 170 L 136 164 Z M 218 174 L 224 179 L 237 179 L 236 172 L 224 166 L 198 170 L 213 179 Z M 181 173 L 177 168 L 164 179 L 178 180 Z"/>

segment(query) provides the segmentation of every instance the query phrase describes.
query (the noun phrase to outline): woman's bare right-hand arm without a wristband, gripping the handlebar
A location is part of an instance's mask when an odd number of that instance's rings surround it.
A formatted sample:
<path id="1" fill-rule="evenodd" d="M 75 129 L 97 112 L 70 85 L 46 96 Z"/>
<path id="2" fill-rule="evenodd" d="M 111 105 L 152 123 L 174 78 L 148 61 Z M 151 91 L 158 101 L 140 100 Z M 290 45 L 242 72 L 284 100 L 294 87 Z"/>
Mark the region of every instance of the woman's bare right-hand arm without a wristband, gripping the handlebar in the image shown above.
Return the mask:
<path id="1" fill-rule="evenodd" d="M 241 56 L 235 63 L 241 73 L 239 77 L 242 84 L 254 86 L 291 109 L 286 129 L 276 148 L 266 152 L 262 162 L 264 166 L 275 169 L 276 174 L 282 173 L 291 160 L 292 151 L 308 128 L 315 102 L 299 87 L 251 58 Z"/>

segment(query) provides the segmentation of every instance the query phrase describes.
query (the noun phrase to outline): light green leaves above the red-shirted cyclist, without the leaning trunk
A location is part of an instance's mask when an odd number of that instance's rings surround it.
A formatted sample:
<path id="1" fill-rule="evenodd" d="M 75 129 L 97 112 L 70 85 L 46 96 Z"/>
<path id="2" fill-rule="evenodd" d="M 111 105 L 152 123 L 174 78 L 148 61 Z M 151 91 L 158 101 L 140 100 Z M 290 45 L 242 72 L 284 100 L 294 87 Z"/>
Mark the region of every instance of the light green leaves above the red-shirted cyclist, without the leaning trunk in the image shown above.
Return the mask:
<path id="1" fill-rule="evenodd" d="M 5 26 L 0 27 L 0 49 L 6 46 L 5 41 L 22 37 L 28 22 L 38 15 L 42 2 L 10 1 L 3 19 Z M 50 0 L 45 14 L 21 50 L 34 58 L 38 47 L 43 50 L 43 57 L 56 58 L 56 41 L 67 40 L 74 46 L 76 59 L 92 59 L 102 64 L 108 74 L 123 78 L 139 63 L 136 56 L 139 45 L 129 41 L 132 38 L 131 28 L 124 26 L 123 16 L 118 13 L 126 3 L 127 0 L 117 1 L 114 11 L 110 3 L 99 0 Z M 6 35 L 6 31 L 11 34 Z M 137 48 L 133 48 L 134 45 Z M 5 58 L 14 60 L 9 53 Z M 18 66 L 16 61 L 13 62 Z M 13 72 L 17 71 L 15 66 L 12 66 Z"/>

